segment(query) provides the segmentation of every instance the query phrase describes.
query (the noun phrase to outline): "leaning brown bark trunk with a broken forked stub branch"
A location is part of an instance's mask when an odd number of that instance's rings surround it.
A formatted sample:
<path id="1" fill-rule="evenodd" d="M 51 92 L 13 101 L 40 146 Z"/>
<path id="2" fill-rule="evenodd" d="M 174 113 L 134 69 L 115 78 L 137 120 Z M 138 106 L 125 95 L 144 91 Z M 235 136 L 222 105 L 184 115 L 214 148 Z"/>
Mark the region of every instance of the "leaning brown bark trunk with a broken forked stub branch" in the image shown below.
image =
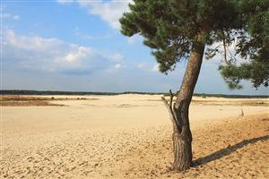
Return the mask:
<path id="1" fill-rule="evenodd" d="M 194 93 L 204 55 L 204 43 L 201 36 L 197 37 L 195 47 L 192 49 L 187 63 L 182 85 L 173 104 L 173 94 L 170 92 L 169 103 L 162 98 L 173 123 L 173 149 L 175 171 L 184 171 L 192 166 L 192 133 L 189 127 L 188 110 Z"/>

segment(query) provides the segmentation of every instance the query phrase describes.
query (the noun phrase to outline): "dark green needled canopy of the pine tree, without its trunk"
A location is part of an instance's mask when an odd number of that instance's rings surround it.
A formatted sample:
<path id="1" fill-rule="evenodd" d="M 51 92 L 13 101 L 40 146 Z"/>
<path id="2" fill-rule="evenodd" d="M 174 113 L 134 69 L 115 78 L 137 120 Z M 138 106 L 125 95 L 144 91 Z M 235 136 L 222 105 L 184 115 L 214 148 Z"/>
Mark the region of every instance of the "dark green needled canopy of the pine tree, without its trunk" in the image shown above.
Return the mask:
<path id="1" fill-rule="evenodd" d="M 129 7 L 121 32 L 142 35 L 161 72 L 187 60 L 200 36 L 207 58 L 223 56 L 219 69 L 231 89 L 240 88 L 242 79 L 268 86 L 269 0 L 134 0 Z M 231 45 L 233 54 L 227 52 Z"/>

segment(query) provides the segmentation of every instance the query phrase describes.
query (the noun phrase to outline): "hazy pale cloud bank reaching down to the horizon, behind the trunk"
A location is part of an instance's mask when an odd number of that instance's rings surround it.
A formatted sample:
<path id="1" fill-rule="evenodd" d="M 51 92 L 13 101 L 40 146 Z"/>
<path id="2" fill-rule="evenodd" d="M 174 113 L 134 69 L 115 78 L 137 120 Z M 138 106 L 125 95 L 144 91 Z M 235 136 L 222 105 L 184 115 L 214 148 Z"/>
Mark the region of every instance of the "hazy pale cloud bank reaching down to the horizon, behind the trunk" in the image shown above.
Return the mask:
<path id="1" fill-rule="evenodd" d="M 122 55 L 104 55 L 91 47 L 58 38 L 20 36 L 13 30 L 4 31 L 2 55 L 3 89 L 176 91 L 185 71 L 184 67 L 180 67 L 166 76 L 152 72 L 157 70 L 153 60 L 136 65 L 135 62 L 116 62 L 112 60 L 113 56 L 120 59 Z M 208 88 L 209 83 L 216 84 L 215 88 Z M 205 61 L 195 91 L 267 94 L 268 90 L 263 88 L 258 92 L 249 87 L 232 92 L 221 80 L 217 65 Z"/>

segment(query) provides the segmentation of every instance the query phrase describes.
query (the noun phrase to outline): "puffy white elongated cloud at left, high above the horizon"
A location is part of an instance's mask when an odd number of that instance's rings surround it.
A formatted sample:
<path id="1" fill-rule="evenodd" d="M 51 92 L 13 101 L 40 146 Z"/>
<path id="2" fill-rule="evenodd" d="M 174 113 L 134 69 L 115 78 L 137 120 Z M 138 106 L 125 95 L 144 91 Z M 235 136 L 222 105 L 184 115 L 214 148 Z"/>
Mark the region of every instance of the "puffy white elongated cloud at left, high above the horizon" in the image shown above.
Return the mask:
<path id="1" fill-rule="evenodd" d="M 119 59 L 120 54 L 112 54 Z M 7 68 L 16 67 L 41 72 L 89 74 L 106 71 L 121 64 L 91 48 L 66 43 L 57 38 L 19 36 L 13 30 L 4 32 L 3 62 Z"/>

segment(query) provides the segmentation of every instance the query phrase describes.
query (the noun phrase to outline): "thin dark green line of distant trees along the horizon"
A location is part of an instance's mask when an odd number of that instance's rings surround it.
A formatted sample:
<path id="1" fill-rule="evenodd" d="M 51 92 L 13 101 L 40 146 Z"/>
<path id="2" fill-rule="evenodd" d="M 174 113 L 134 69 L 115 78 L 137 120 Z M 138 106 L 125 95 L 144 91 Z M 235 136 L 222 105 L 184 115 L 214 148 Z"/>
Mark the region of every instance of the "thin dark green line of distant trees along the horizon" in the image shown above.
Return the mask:
<path id="1" fill-rule="evenodd" d="M 56 91 L 56 90 L 0 90 L 1 95 L 121 95 L 121 94 L 147 94 L 147 95 L 169 95 L 158 92 L 85 92 L 85 91 Z M 225 94 L 205 94 L 196 93 L 196 97 L 216 97 L 216 98 L 269 98 L 269 95 L 225 95 Z"/>

